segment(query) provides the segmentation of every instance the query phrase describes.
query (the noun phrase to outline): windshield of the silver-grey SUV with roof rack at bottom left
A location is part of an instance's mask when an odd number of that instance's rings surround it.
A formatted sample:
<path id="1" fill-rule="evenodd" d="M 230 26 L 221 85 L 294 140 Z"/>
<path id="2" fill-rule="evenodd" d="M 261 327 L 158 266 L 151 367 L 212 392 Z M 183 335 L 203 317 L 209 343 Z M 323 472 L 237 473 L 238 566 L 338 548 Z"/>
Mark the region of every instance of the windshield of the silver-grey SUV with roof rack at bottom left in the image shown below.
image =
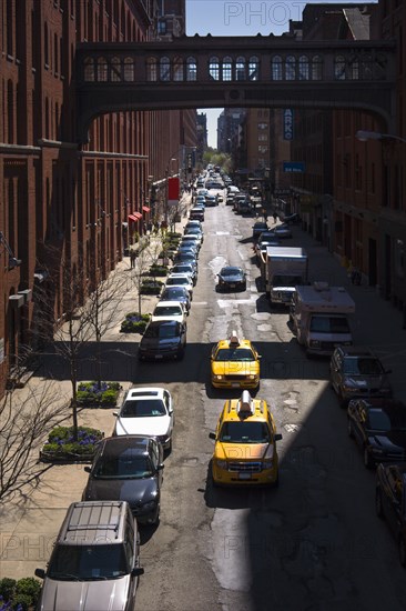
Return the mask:
<path id="1" fill-rule="evenodd" d="M 47 577 L 58 581 L 97 581 L 116 579 L 130 571 L 123 545 L 83 545 L 79 540 L 78 544 L 55 547 Z"/>

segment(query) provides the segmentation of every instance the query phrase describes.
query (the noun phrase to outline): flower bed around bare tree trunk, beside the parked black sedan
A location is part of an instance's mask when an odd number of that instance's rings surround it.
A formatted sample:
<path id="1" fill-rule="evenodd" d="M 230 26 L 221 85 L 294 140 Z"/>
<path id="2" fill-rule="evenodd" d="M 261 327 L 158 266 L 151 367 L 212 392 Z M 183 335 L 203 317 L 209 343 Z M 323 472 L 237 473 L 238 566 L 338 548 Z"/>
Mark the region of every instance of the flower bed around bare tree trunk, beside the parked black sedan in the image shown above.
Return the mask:
<path id="1" fill-rule="evenodd" d="M 42 462 L 91 462 L 97 443 L 104 433 L 99 429 L 78 427 L 78 441 L 73 440 L 73 427 L 55 427 L 40 451 Z"/>

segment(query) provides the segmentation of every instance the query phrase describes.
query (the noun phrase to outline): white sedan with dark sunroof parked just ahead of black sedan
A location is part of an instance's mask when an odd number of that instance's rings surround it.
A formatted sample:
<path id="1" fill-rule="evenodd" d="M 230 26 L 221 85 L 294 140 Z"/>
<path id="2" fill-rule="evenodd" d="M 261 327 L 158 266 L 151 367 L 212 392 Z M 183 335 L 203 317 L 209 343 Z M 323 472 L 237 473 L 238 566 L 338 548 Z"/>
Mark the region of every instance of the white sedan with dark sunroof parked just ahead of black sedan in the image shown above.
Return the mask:
<path id="1" fill-rule="evenodd" d="M 173 401 L 169 390 L 155 387 L 130 389 L 116 417 L 113 435 L 142 434 L 172 449 Z"/>

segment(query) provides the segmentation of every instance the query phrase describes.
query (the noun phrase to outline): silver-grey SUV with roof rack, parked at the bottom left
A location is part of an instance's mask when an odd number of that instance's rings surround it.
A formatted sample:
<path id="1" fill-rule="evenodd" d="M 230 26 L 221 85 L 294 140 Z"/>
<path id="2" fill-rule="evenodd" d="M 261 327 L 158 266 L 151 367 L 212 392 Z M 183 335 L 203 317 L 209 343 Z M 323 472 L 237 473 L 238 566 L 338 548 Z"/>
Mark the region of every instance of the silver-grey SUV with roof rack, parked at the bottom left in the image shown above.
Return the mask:
<path id="1" fill-rule="evenodd" d="M 140 568 L 136 520 L 125 501 L 72 503 L 43 579 L 41 611 L 132 611 Z"/>

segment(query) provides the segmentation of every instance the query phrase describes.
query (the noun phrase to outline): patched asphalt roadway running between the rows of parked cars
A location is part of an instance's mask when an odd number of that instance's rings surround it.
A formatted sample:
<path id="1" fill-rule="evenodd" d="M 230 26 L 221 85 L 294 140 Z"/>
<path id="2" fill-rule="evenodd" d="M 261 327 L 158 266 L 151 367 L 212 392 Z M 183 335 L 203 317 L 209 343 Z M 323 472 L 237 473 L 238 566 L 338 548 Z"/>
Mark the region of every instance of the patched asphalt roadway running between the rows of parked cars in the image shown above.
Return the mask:
<path id="1" fill-rule="evenodd" d="M 142 533 L 145 574 L 136 608 L 404 610 L 405 571 L 387 525 L 375 515 L 375 474 L 364 468 L 347 437 L 345 411 L 328 385 L 328 361 L 306 359 L 287 313 L 271 312 L 258 292 L 253 219 L 225 206 L 207 209 L 205 219 L 184 361 L 132 361 L 135 383 L 165 385 L 175 400 L 161 522 Z M 333 257 L 300 228 L 293 231 L 286 246 L 306 246 L 313 278 L 341 283 L 342 270 Z M 215 274 L 225 263 L 246 270 L 245 292 L 215 292 Z M 367 300 L 365 291 L 358 299 L 355 340 L 371 344 L 374 321 Z M 235 397 L 211 388 L 210 352 L 234 329 L 262 354 L 257 395 L 267 400 L 283 434 L 276 490 L 213 489 L 207 478 L 213 450 L 209 432 L 224 400 Z M 374 341 L 400 388 L 399 340 L 382 331 Z M 402 358 L 404 367 L 404 351 Z"/>

